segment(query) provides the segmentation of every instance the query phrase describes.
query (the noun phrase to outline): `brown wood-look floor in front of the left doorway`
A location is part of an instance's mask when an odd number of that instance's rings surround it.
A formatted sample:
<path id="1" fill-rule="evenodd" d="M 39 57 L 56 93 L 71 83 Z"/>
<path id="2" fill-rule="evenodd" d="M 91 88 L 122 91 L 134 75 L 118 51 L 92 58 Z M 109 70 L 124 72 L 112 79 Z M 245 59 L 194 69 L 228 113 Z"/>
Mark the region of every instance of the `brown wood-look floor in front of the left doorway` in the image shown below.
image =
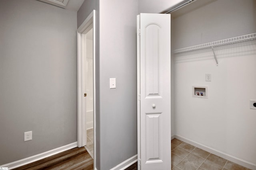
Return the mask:
<path id="1" fill-rule="evenodd" d="M 74 148 L 14 170 L 93 170 L 93 159 L 84 147 Z"/>

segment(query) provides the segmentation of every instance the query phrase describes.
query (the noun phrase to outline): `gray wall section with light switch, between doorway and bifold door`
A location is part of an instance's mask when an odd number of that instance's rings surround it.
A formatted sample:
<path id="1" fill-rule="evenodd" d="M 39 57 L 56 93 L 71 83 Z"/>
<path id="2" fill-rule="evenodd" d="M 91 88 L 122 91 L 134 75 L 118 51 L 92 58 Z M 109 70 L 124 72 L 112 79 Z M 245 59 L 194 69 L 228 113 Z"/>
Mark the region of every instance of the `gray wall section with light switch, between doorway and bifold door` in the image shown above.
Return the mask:
<path id="1" fill-rule="evenodd" d="M 100 0 L 101 170 L 137 154 L 137 14 L 137 0 Z"/>

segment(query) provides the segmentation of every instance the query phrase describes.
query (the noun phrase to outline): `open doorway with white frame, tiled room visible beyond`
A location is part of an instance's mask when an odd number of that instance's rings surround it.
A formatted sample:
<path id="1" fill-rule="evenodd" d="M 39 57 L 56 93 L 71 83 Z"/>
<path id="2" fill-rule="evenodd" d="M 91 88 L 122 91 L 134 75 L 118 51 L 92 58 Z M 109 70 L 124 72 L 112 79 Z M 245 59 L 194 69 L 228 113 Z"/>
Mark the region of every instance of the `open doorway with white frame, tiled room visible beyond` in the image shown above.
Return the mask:
<path id="1" fill-rule="evenodd" d="M 95 158 L 95 10 L 77 29 L 77 146 Z M 95 159 L 94 159 L 95 163 Z"/>

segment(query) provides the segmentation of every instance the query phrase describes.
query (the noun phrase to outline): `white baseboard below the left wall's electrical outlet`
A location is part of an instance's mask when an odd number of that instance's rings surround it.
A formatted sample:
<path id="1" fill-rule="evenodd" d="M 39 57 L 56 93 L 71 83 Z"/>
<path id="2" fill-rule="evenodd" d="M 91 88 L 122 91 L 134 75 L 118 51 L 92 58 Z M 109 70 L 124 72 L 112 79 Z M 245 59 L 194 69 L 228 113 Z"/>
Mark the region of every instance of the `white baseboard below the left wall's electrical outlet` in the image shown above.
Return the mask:
<path id="1" fill-rule="evenodd" d="M 11 170 L 11 169 L 14 169 L 14 168 L 18 168 L 20 166 L 24 166 L 26 164 L 30 164 L 32 162 L 36 162 L 36 161 L 41 160 L 43 158 L 47 158 L 47 157 L 52 156 L 54 154 L 58 154 L 60 152 L 66 151 L 66 150 L 73 149 L 75 147 L 77 147 L 77 142 L 70 143 L 68 145 L 65 145 L 65 146 L 62 146 L 62 147 L 59 147 L 59 148 L 56 148 L 56 149 L 48 150 L 46 152 L 36 154 L 36 155 L 30 156 L 28 158 L 24 158 L 24 159 L 21 159 L 21 160 L 10 162 L 8 164 L 0 165 L 0 167 L 8 167 L 8 170 Z"/>

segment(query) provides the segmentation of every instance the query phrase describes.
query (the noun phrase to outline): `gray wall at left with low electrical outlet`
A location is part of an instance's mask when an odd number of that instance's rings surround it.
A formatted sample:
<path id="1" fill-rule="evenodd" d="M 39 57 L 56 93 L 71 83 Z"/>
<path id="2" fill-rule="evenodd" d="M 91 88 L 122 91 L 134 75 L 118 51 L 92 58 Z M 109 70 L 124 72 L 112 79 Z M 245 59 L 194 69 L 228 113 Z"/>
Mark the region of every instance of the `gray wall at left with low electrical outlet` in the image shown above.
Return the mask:
<path id="1" fill-rule="evenodd" d="M 77 141 L 76 27 L 76 12 L 1 0 L 0 165 Z"/>

